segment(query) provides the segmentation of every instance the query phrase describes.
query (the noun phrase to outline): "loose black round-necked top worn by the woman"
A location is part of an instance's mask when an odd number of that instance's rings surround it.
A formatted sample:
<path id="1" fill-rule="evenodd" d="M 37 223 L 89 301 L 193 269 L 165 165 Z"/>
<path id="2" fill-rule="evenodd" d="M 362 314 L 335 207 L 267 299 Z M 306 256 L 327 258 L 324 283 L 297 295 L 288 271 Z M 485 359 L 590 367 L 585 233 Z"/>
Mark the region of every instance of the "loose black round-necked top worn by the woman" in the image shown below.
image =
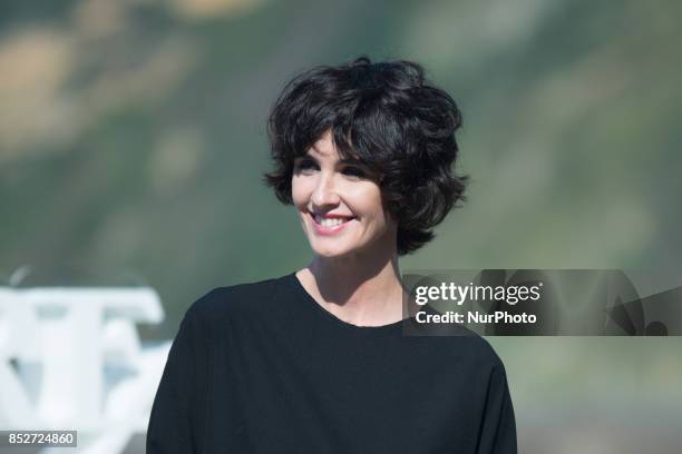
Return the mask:
<path id="1" fill-rule="evenodd" d="M 187 310 L 147 453 L 516 453 L 505 369 L 469 336 L 403 336 L 320 306 L 294 274 Z"/>

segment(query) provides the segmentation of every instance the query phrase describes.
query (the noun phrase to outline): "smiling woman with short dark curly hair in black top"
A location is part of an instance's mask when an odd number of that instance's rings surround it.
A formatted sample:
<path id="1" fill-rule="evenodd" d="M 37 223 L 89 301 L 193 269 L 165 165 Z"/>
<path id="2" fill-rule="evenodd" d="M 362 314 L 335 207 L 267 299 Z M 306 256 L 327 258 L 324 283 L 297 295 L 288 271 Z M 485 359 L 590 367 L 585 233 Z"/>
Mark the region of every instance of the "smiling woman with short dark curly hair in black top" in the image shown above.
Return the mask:
<path id="1" fill-rule="evenodd" d="M 312 260 L 187 310 L 148 453 L 516 453 L 489 345 L 401 329 L 398 256 L 429 241 L 461 197 L 460 124 L 412 62 L 360 58 L 285 87 L 266 181 L 295 207 Z"/>

